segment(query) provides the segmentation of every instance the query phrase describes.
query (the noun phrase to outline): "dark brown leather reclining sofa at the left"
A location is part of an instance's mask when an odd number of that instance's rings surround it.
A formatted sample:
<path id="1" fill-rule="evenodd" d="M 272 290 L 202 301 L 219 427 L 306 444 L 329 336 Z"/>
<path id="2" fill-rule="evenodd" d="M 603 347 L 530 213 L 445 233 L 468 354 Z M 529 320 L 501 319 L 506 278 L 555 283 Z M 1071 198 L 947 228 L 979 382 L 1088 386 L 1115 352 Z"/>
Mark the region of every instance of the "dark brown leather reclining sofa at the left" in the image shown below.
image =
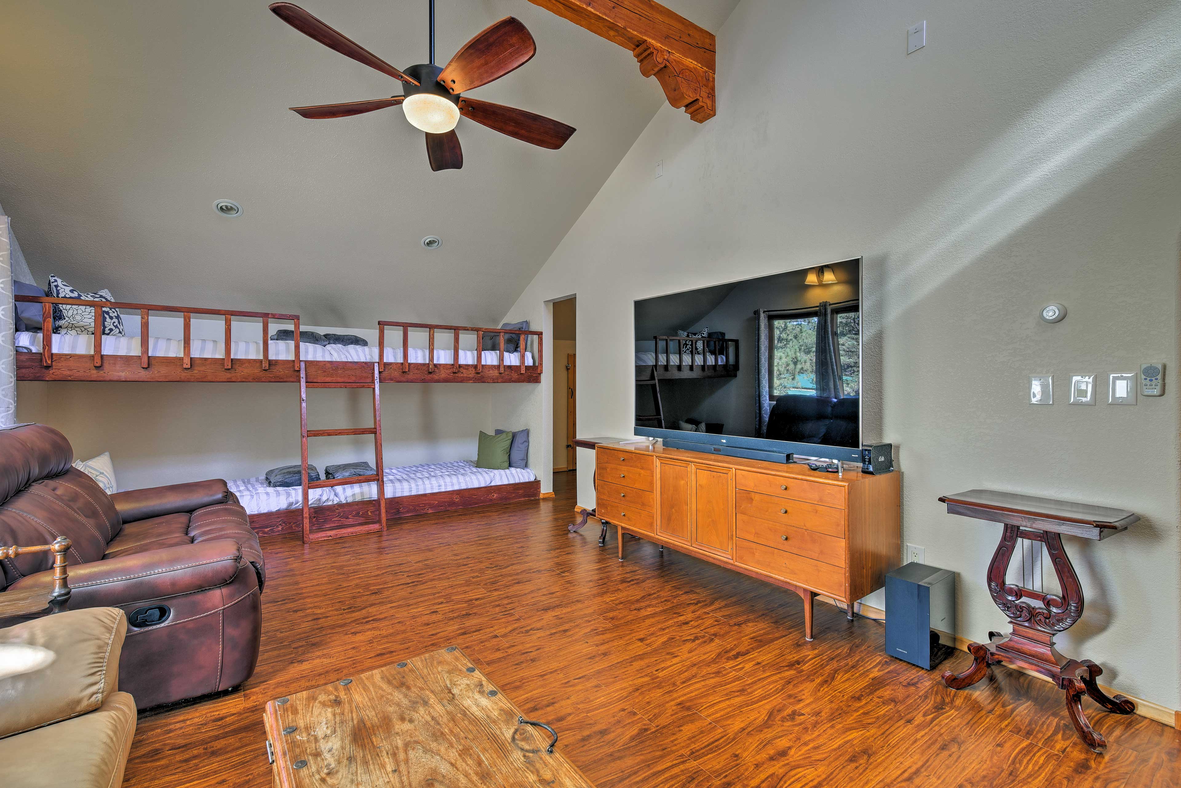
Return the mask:
<path id="1" fill-rule="evenodd" d="M 43 424 L 0 430 L 0 545 L 68 552 L 70 610 L 128 618 L 119 686 L 149 706 L 234 688 L 262 632 L 262 549 L 224 480 L 107 495 Z M 52 555 L 0 561 L 0 590 L 48 595 Z"/>

